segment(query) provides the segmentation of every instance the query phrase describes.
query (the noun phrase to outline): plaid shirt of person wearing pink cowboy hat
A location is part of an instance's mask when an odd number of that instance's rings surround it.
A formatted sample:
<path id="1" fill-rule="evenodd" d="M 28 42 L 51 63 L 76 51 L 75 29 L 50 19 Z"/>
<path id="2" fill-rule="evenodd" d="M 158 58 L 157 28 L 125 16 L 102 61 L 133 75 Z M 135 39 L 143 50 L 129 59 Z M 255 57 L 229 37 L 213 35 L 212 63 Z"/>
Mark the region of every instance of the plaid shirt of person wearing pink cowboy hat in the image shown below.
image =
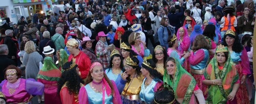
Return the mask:
<path id="1" fill-rule="evenodd" d="M 98 41 L 96 45 L 96 53 L 99 52 L 99 60 L 103 62 L 103 68 L 108 68 L 109 63 L 110 63 L 110 54 L 111 52 L 107 50 L 106 48 L 108 47 L 107 42 L 103 42 L 101 40 Z"/>

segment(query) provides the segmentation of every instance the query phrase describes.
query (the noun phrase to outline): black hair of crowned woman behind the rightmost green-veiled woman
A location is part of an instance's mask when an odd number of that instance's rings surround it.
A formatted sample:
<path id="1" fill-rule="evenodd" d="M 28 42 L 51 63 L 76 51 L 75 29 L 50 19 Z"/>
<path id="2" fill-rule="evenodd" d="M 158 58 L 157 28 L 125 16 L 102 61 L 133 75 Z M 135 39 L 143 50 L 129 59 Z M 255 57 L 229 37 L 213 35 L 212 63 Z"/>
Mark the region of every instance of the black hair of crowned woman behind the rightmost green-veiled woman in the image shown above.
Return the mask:
<path id="1" fill-rule="evenodd" d="M 233 43 L 233 46 L 232 46 L 232 51 L 236 52 L 236 53 L 239 53 L 239 52 L 242 52 L 243 50 L 243 46 L 242 44 L 240 43 L 240 41 L 238 40 L 238 36 L 234 36 L 232 34 L 225 34 L 224 37 L 223 37 L 223 42 L 222 42 L 222 45 L 228 47 L 228 44 L 226 42 L 226 37 L 231 37 L 231 38 L 234 38 L 234 43 Z"/>

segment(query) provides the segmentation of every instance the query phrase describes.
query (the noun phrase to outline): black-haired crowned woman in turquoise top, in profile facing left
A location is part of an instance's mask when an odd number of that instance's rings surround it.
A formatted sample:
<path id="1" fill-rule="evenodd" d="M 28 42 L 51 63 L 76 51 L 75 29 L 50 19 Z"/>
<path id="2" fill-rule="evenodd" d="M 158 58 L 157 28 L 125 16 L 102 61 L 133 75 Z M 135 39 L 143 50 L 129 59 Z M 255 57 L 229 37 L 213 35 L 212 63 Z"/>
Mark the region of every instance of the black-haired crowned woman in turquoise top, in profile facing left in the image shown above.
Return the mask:
<path id="1" fill-rule="evenodd" d="M 154 92 L 162 85 L 162 75 L 155 70 L 152 59 L 144 59 L 141 73 L 145 76 L 140 91 L 140 99 L 146 104 L 154 104 Z"/>

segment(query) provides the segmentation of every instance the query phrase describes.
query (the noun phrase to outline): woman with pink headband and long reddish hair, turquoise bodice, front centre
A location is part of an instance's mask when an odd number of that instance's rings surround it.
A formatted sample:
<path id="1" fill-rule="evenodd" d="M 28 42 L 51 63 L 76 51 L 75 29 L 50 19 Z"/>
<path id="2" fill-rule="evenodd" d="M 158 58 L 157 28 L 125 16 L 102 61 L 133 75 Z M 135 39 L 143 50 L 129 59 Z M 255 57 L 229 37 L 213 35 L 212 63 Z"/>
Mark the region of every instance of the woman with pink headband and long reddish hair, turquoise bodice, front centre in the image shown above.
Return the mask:
<path id="1" fill-rule="evenodd" d="M 85 84 L 79 91 L 79 104 L 122 103 L 115 82 L 109 80 L 99 62 L 91 64 Z"/>

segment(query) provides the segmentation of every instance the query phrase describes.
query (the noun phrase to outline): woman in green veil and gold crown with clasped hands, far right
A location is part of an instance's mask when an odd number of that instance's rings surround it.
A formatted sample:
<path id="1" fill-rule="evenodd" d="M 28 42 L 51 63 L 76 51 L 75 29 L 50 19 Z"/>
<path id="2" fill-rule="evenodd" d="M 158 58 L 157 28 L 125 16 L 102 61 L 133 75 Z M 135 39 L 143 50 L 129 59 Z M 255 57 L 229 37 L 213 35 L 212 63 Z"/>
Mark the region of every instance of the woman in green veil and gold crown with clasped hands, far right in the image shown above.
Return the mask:
<path id="1" fill-rule="evenodd" d="M 227 47 L 219 45 L 216 54 L 204 72 L 203 84 L 208 85 L 208 104 L 237 104 L 239 75 L 230 59 Z"/>

